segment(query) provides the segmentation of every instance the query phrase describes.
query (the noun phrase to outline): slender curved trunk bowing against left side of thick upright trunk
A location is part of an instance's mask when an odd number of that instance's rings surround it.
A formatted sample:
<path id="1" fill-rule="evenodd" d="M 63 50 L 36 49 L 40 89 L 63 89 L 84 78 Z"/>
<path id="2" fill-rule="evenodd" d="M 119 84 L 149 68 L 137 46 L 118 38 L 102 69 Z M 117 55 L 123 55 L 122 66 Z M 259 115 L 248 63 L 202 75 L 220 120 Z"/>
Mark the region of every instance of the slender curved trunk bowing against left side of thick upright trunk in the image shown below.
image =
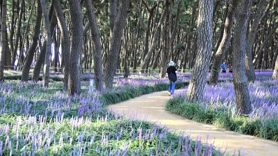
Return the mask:
<path id="1" fill-rule="evenodd" d="M 63 60 L 70 60 L 70 33 L 67 29 L 67 24 L 65 22 L 65 16 L 60 4 L 60 1 L 53 1 L 54 10 L 56 12 L 56 17 L 58 20 L 58 26 L 60 28 L 60 34 L 62 37 L 62 55 Z M 70 62 L 64 61 L 65 70 L 64 70 L 64 82 L 63 82 L 63 90 L 67 91 L 68 89 L 68 81 L 69 81 L 69 69 Z"/>

